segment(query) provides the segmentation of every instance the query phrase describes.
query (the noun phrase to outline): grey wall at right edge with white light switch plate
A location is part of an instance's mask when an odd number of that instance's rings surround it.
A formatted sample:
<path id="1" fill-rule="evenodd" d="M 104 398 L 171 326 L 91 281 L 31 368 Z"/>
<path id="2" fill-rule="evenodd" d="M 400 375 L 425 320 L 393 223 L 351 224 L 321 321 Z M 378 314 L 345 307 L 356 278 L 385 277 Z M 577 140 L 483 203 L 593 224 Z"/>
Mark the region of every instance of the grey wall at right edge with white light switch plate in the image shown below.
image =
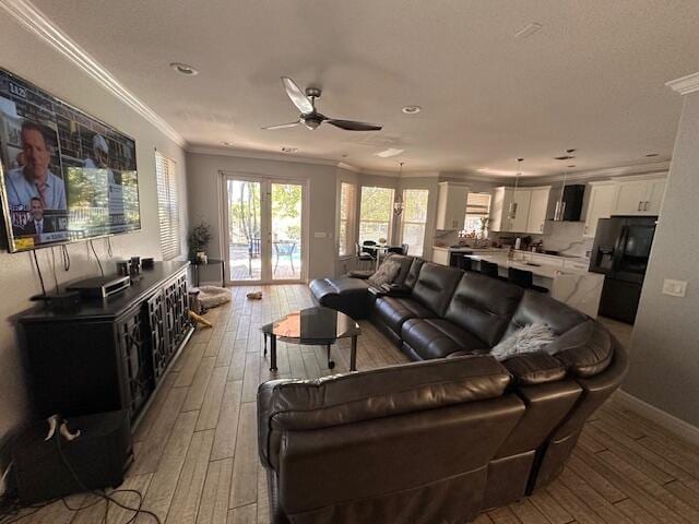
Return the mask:
<path id="1" fill-rule="evenodd" d="M 623 389 L 699 427 L 699 93 L 685 95 Z M 687 296 L 661 293 L 687 281 Z"/>

